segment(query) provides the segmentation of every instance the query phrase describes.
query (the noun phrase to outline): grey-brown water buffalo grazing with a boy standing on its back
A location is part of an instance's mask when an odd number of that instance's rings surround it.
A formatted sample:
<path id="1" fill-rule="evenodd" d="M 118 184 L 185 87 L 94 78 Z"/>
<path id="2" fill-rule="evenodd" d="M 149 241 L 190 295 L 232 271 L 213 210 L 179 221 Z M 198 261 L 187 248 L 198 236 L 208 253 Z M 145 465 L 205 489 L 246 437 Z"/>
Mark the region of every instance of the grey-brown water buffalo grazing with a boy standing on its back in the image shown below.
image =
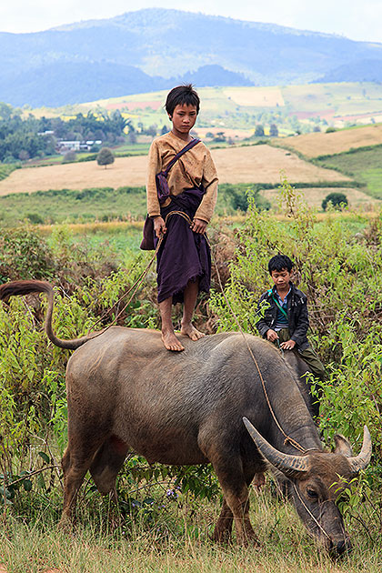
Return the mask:
<path id="1" fill-rule="evenodd" d="M 256 541 L 248 487 L 269 462 L 289 480 L 307 529 L 337 554 L 350 547 L 331 486 L 338 475 L 349 479 L 367 466 L 367 427 L 357 457 L 343 437 L 336 437 L 334 453 L 323 451 L 297 379 L 275 347 L 233 332 L 197 342 L 182 337 L 185 351 L 171 353 L 163 347 L 160 332 L 125 327 L 60 340 L 52 331 L 54 301 L 48 283 L 8 283 L 0 286 L 0 299 L 33 291 L 48 296 L 48 337 L 58 347 L 77 348 L 66 370 L 69 441 L 62 461 L 63 520 L 72 516 L 86 471 L 101 493 L 113 491 L 126 453 L 133 448 L 148 462 L 212 463 L 224 493 L 216 540 L 229 538 L 234 521 L 238 542 Z M 274 415 L 248 347 L 264 377 Z M 303 452 L 286 439 L 276 420 Z"/>

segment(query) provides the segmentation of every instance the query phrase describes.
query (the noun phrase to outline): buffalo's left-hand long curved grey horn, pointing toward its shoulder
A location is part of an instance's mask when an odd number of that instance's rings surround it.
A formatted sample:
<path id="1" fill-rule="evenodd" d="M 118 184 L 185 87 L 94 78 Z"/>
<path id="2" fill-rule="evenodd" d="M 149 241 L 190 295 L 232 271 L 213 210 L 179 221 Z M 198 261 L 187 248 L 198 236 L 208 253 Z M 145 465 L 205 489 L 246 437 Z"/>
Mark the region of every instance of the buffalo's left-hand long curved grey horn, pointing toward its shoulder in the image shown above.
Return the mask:
<path id="1" fill-rule="evenodd" d="M 243 417 L 243 422 L 260 453 L 272 466 L 279 469 L 286 477 L 297 477 L 301 475 L 301 473 L 307 472 L 307 457 L 289 456 L 288 454 L 278 451 L 278 449 L 271 446 L 266 439 L 257 432 L 256 427 L 254 427 L 246 417 Z"/>

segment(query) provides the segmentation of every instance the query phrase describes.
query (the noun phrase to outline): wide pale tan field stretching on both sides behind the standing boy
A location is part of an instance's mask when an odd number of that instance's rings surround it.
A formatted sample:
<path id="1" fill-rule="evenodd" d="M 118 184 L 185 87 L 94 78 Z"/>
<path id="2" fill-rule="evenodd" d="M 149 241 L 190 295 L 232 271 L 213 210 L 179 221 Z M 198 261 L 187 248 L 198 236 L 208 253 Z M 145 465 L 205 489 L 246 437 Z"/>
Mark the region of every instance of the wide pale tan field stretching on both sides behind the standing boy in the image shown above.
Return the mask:
<path id="1" fill-rule="evenodd" d="M 336 171 L 314 166 L 285 149 L 245 146 L 213 149 L 221 183 L 272 183 L 283 173 L 289 182 L 333 182 L 347 179 Z M 59 166 L 17 169 L 0 181 L 0 196 L 49 189 L 85 189 L 102 186 L 143 186 L 146 183 L 146 156 L 117 157 L 105 169 L 95 161 Z"/>

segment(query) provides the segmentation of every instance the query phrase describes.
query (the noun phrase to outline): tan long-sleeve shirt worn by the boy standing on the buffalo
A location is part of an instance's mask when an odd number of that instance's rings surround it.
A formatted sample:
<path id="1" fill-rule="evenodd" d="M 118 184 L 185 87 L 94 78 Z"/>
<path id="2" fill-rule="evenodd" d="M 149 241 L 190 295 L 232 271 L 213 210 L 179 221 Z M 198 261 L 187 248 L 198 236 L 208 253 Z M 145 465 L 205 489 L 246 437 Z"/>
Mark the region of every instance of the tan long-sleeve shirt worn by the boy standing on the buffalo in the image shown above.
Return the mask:
<path id="1" fill-rule="evenodd" d="M 147 173 L 147 213 L 149 216 L 160 215 L 160 206 L 156 193 L 156 174 L 160 173 L 170 163 L 171 159 L 186 146 L 186 142 L 172 132 L 165 136 L 157 137 L 151 144 L 148 153 Z M 217 198 L 217 174 L 216 166 L 209 149 L 200 142 L 192 147 L 171 167 L 167 184 L 170 196 L 176 196 L 196 186 L 205 188 L 205 195 L 196 210 L 196 219 L 209 223 Z"/>

